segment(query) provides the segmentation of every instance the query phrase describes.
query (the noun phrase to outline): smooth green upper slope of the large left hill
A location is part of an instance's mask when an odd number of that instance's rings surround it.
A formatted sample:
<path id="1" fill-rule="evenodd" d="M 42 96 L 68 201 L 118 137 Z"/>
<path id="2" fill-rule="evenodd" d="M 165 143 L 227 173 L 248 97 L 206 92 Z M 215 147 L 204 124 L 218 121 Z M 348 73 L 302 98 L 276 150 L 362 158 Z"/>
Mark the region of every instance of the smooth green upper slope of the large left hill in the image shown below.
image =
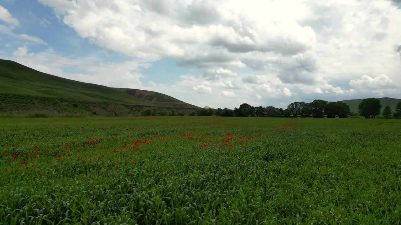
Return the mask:
<path id="1" fill-rule="evenodd" d="M 0 94 L 148 105 L 114 88 L 53 76 L 10 60 L 0 60 Z"/>

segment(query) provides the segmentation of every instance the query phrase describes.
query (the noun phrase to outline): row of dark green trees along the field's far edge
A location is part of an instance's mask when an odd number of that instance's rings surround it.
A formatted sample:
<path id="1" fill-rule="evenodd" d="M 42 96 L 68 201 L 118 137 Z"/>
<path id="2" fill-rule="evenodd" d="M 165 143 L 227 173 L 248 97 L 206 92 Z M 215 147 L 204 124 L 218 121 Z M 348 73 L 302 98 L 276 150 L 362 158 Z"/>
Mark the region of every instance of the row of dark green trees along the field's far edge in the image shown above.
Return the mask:
<path id="1" fill-rule="evenodd" d="M 316 99 L 312 102 L 292 102 L 286 109 L 276 108 L 274 106 L 251 106 L 248 103 L 241 104 L 238 108 L 200 108 L 188 114 L 188 116 L 218 116 L 218 117 L 340 117 L 348 115 L 360 115 L 365 118 L 376 118 L 378 115 L 384 115 L 389 118 L 401 118 L 401 102 L 398 102 L 393 113 L 390 106 L 385 106 L 381 112 L 381 102 L 377 98 L 366 98 L 358 106 L 358 113 L 351 112 L 350 106 L 342 101 L 329 102 Z M 112 104 L 108 110 L 116 117 L 121 114 L 122 106 Z M 184 116 L 183 112 L 174 109 L 168 111 L 159 111 L 157 107 L 146 108 L 141 111 L 141 116 Z"/>

